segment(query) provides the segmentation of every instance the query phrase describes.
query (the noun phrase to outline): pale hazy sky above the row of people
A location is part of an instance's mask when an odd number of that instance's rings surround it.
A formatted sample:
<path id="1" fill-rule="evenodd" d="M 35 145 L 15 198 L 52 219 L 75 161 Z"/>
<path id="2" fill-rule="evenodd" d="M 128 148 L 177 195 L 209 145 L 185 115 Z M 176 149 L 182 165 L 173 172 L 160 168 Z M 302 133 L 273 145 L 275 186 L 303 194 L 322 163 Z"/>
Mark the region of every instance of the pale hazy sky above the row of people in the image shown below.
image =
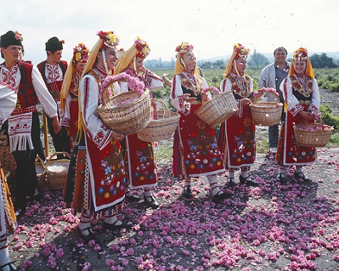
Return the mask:
<path id="1" fill-rule="evenodd" d="M 234 42 L 263 53 L 281 45 L 289 53 L 299 46 L 339 51 L 338 0 L 18 0 L 0 14 L 1 35 L 22 33 L 25 59 L 36 64 L 52 36 L 65 40 L 69 61 L 78 42 L 93 47 L 98 30 L 115 31 L 125 49 L 140 36 L 151 47 L 148 59 L 170 60 L 182 41 L 195 47 L 198 60 L 229 55 Z"/>

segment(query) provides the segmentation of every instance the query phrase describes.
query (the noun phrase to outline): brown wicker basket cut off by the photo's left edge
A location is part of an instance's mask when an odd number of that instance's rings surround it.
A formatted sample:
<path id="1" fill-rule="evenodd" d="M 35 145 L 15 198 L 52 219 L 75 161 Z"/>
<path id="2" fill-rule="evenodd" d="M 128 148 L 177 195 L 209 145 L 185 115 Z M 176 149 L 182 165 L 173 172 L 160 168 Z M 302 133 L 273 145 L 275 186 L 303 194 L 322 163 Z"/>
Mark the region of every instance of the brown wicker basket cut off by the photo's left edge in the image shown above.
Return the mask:
<path id="1" fill-rule="evenodd" d="M 14 180 L 17 163 L 15 162 L 13 154 L 10 153 L 10 147 L 8 145 L 7 136 L 4 134 L 4 131 L 0 134 L 0 162 L 3 169 L 10 172 L 8 180 Z"/>

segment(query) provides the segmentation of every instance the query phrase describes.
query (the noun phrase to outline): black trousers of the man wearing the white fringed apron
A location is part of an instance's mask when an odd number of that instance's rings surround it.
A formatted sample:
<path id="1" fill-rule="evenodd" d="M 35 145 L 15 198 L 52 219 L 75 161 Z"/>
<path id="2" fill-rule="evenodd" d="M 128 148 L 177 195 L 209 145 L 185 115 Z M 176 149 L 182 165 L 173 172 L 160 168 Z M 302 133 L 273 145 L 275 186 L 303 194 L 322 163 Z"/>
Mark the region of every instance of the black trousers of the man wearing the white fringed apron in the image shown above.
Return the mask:
<path id="1" fill-rule="evenodd" d="M 31 138 L 33 150 L 17 150 L 13 152 L 17 168 L 15 169 L 15 208 L 26 208 L 26 196 L 33 196 L 38 188 L 38 178 L 36 177 L 36 148 L 41 144 L 40 121 L 38 113 L 33 113 Z"/>

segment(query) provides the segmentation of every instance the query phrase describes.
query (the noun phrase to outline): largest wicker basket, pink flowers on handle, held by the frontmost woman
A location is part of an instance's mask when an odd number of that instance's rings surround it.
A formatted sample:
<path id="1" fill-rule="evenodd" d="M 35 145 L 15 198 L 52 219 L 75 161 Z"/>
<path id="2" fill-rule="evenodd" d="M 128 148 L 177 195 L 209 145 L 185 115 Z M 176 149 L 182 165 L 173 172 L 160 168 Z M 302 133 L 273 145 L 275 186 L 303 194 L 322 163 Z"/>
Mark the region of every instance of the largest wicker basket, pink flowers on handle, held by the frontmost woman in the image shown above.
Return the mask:
<path id="1" fill-rule="evenodd" d="M 114 95 L 114 83 L 127 82 L 130 91 Z M 98 114 L 105 125 L 119 134 L 135 134 L 151 121 L 151 96 L 144 82 L 122 72 L 105 79 L 99 91 Z"/>

